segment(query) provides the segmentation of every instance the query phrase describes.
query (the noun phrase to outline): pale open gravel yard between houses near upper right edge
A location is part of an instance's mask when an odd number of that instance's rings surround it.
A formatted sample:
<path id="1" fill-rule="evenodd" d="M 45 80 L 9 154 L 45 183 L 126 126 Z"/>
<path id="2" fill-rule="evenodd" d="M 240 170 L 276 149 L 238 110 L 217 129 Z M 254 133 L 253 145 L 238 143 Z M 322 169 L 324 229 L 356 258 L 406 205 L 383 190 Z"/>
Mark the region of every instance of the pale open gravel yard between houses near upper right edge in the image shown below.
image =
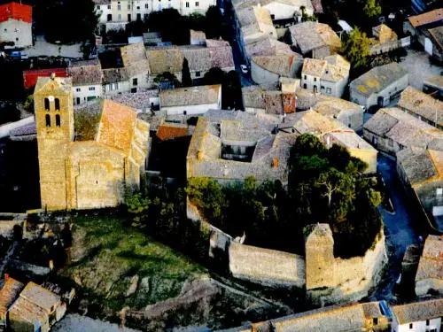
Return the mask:
<path id="1" fill-rule="evenodd" d="M 400 65 L 409 73 L 409 85 L 422 90 L 423 81 L 430 75 L 438 75 L 443 68 L 431 65 L 429 55 L 424 51 L 408 49 L 408 55 L 401 58 Z"/>

